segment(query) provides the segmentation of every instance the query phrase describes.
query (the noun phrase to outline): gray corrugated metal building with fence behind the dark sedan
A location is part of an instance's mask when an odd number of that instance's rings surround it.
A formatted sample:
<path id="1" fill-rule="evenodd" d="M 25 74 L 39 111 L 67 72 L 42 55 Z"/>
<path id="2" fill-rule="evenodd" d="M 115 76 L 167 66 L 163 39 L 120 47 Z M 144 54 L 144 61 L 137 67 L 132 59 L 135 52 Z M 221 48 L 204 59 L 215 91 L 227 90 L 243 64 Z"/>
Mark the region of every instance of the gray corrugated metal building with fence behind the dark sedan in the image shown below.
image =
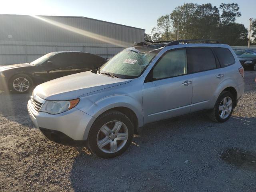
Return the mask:
<path id="1" fill-rule="evenodd" d="M 0 65 L 64 50 L 112 57 L 144 41 L 144 31 L 86 17 L 0 14 Z"/>

